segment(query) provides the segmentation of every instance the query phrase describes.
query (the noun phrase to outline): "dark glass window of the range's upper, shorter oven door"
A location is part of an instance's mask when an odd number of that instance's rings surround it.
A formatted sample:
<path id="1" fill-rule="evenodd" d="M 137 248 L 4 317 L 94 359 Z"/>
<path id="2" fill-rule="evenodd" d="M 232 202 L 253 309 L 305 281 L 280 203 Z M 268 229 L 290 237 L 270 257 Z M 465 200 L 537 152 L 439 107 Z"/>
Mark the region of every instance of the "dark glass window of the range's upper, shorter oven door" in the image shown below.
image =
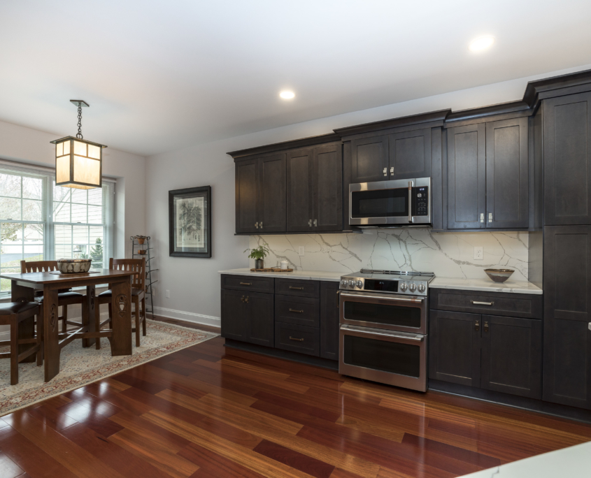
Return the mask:
<path id="1" fill-rule="evenodd" d="M 344 314 L 347 320 L 415 328 L 420 328 L 421 325 L 421 310 L 419 307 L 350 302 L 346 300 Z"/>

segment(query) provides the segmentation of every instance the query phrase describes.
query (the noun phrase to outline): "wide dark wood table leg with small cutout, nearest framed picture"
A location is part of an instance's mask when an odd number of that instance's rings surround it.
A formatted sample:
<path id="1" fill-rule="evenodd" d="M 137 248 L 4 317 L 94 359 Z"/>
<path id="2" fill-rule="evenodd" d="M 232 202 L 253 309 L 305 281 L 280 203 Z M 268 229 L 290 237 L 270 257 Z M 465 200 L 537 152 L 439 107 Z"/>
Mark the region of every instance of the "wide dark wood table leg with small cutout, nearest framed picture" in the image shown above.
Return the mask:
<path id="1" fill-rule="evenodd" d="M 131 277 L 111 283 L 111 355 L 131 355 Z"/>

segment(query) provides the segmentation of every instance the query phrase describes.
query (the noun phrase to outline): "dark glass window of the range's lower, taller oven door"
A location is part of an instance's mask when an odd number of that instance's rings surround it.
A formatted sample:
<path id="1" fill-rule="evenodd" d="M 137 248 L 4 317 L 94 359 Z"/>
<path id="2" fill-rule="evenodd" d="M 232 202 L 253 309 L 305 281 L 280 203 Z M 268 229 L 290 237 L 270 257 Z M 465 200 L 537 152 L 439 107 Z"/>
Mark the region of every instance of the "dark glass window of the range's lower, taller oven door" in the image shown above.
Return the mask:
<path id="1" fill-rule="evenodd" d="M 345 335 L 343 361 L 348 365 L 420 377 L 420 345 Z"/>

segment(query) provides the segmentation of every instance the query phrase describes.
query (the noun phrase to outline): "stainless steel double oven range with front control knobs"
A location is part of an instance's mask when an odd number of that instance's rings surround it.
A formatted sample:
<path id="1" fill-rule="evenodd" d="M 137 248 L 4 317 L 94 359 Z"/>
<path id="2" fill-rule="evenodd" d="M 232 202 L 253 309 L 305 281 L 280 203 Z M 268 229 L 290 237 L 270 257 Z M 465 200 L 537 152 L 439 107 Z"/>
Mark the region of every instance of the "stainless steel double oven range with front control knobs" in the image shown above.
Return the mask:
<path id="1" fill-rule="evenodd" d="M 341 277 L 339 373 L 427 390 L 433 273 L 362 269 Z"/>

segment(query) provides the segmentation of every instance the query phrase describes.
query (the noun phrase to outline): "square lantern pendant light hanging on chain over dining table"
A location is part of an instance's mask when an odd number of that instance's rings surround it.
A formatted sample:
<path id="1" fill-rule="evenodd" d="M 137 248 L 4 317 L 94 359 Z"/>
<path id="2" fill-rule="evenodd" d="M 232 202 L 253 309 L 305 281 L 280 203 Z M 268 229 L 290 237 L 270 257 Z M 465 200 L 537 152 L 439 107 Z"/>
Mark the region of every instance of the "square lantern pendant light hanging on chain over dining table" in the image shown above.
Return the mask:
<path id="1" fill-rule="evenodd" d="M 70 103 L 78 106 L 78 133 L 76 138 L 66 136 L 51 141 L 55 144 L 55 184 L 77 189 L 102 187 L 103 148 L 106 146 L 82 136 L 82 108 L 88 108 L 88 103 L 82 100 L 70 100 Z"/>

